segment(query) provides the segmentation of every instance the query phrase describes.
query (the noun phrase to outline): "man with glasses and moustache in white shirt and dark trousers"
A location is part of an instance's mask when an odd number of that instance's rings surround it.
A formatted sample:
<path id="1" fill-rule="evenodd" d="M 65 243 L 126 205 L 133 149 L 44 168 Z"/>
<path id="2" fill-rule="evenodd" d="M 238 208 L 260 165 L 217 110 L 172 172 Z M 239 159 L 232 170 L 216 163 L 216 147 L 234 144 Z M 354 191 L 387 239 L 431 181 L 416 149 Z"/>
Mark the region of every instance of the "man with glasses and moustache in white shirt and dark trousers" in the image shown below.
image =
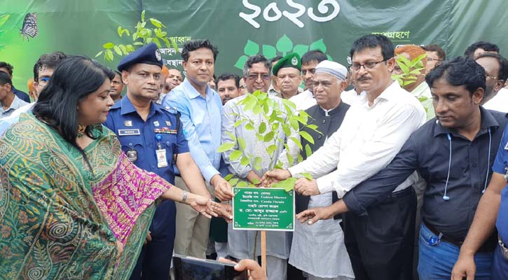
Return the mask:
<path id="1" fill-rule="evenodd" d="M 425 123 L 420 102 L 391 78 L 395 60 L 390 39 L 379 34 L 362 36 L 353 43 L 350 56 L 353 78 L 366 97 L 350 107 L 341 127 L 313 155 L 287 170 L 267 172 L 264 183 L 308 172 L 316 179 L 298 179 L 297 193 L 320 195 L 335 190 L 341 198 L 385 168 L 411 133 Z M 356 279 L 412 278 L 416 195 L 411 185 L 415 179 L 409 176 L 388 195 L 385 206 L 373 209 L 369 217 L 345 215 L 345 245 Z M 313 209 L 308 209 L 297 217 L 313 216 Z"/>

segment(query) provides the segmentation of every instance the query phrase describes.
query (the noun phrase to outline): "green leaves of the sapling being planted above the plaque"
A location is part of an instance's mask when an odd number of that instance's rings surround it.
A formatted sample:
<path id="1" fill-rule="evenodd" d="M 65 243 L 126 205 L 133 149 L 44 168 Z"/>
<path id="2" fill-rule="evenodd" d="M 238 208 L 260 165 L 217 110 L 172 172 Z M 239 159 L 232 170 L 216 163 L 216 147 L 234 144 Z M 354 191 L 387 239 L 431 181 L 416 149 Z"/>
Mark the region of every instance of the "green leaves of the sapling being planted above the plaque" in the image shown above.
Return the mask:
<path id="1" fill-rule="evenodd" d="M 251 45 L 249 48 L 254 49 Z M 299 132 L 297 137 L 294 131 L 298 131 L 299 127 L 306 127 L 310 130 L 317 132 L 317 125 L 309 125 L 308 113 L 305 111 L 296 111 L 295 105 L 289 100 L 282 99 L 282 106 L 280 106 L 274 99 L 268 98 L 268 94 L 260 92 L 259 90 L 248 94 L 245 99 L 238 102 L 236 106 L 241 106 L 242 111 L 249 112 L 240 117 L 236 121 L 235 127 L 239 125 L 245 125 L 246 130 L 252 130 L 255 141 L 260 141 L 268 156 L 270 157 L 270 165 L 268 168 L 280 167 L 281 163 L 278 162 L 278 158 L 275 157 L 275 153 L 279 148 L 279 145 L 284 143 L 284 147 L 289 151 L 287 141 L 293 141 L 296 146 L 303 151 L 303 146 L 300 141 L 300 137 L 306 139 L 310 143 L 314 143 L 313 137 L 308 132 Z M 266 109 L 266 110 L 265 110 Z M 257 127 L 254 127 L 254 119 L 261 120 L 261 123 Z M 284 132 L 284 136 L 281 137 L 280 132 Z M 227 142 L 219 146 L 217 151 L 224 152 L 234 150 L 229 155 L 229 160 L 235 161 L 240 160 L 240 165 L 251 165 L 254 169 L 261 170 L 263 167 L 262 160 L 259 156 L 252 155 L 245 151 L 246 141 L 241 137 L 235 137 L 233 134 L 228 133 L 228 136 L 232 139 L 232 142 Z M 306 149 L 310 150 L 307 145 Z M 309 153 L 310 151 L 306 151 Z M 301 161 L 301 157 L 298 157 L 298 161 Z M 290 165 L 293 164 L 294 158 L 288 153 L 288 162 Z M 310 174 L 303 174 L 308 179 L 312 179 Z M 256 187 L 255 185 L 259 182 L 249 183 L 245 180 L 238 180 L 231 174 L 225 178 L 234 187 Z M 296 179 L 290 178 L 274 184 L 273 187 L 284 188 L 284 190 L 292 190 Z"/>

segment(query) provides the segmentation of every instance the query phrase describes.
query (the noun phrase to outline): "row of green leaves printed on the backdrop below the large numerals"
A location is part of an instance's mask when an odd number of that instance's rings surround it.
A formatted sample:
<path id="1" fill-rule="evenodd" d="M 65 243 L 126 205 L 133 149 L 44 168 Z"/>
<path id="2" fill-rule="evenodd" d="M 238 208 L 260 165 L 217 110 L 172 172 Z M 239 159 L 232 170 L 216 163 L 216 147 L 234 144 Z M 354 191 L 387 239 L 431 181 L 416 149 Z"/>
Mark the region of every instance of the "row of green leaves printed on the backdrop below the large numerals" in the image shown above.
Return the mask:
<path id="1" fill-rule="evenodd" d="M 245 47 L 243 48 L 244 54 L 238 57 L 238 59 L 235 62 L 235 67 L 238 69 L 243 69 L 243 66 L 245 62 L 247 61 L 247 57 L 250 55 L 257 55 L 258 53 L 261 53 L 268 59 L 275 57 L 277 55 L 287 55 L 289 52 L 296 52 L 298 55 L 302 56 L 304 53 L 308 52 L 309 50 L 322 50 L 322 52 L 327 52 L 327 45 L 324 44 L 323 39 L 319 39 L 317 41 L 314 41 L 310 43 L 310 45 L 303 45 L 298 44 L 294 45 L 293 41 L 291 41 L 291 38 L 289 38 L 286 34 L 282 35 L 277 42 L 275 43 L 275 46 L 273 45 L 262 45 L 261 48 L 259 48 L 259 44 L 247 40 L 247 43 L 245 43 Z M 328 60 L 333 61 L 331 56 L 327 55 Z"/>

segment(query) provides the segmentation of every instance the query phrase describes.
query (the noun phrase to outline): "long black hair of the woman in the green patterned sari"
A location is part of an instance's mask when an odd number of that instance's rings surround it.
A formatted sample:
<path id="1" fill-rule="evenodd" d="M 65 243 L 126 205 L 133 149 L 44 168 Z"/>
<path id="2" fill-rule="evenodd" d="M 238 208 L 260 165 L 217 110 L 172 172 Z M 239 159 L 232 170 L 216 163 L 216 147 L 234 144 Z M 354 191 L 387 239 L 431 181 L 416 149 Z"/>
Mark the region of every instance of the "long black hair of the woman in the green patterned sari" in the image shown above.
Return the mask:
<path id="1" fill-rule="evenodd" d="M 97 91 L 105 80 L 111 80 L 114 76 L 113 71 L 94 59 L 82 56 L 67 57 L 58 64 L 32 110 L 36 118 L 53 127 L 65 141 L 78 149 L 90 171 L 92 171 L 90 162 L 83 149 L 76 143 L 78 102 Z M 85 133 L 95 139 L 90 126 L 86 127 Z"/>

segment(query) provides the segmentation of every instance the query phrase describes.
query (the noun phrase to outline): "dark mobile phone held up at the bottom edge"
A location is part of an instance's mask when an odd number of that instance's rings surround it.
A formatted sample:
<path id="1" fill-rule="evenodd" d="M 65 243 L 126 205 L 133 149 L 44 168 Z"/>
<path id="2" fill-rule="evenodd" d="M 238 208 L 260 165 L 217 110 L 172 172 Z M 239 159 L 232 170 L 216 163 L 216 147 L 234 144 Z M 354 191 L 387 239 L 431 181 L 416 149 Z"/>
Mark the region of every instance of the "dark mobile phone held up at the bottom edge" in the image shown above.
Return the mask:
<path id="1" fill-rule="evenodd" d="M 247 271 L 238 272 L 234 265 L 202 260 L 186 255 L 173 255 L 175 280 L 247 280 Z"/>

